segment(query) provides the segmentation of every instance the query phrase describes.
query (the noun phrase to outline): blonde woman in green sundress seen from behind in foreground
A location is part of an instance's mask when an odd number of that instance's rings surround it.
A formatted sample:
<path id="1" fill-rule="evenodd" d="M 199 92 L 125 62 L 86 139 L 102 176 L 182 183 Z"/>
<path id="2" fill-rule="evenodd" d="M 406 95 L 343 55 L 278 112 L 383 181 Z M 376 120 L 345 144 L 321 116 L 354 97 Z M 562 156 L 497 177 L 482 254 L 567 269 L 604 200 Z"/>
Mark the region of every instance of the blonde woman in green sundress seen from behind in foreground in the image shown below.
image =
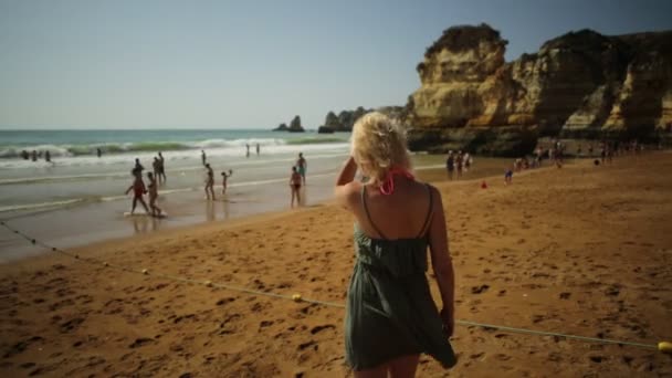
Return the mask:
<path id="1" fill-rule="evenodd" d="M 356 220 L 357 260 L 345 322 L 345 359 L 355 377 L 412 377 L 420 354 L 455 365 L 454 274 L 441 193 L 418 182 L 401 126 L 369 113 L 355 124 L 351 157 L 336 181 L 337 202 Z M 354 180 L 359 169 L 367 183 Z M 443 308 L 430 294 L 431 255 Z"/>

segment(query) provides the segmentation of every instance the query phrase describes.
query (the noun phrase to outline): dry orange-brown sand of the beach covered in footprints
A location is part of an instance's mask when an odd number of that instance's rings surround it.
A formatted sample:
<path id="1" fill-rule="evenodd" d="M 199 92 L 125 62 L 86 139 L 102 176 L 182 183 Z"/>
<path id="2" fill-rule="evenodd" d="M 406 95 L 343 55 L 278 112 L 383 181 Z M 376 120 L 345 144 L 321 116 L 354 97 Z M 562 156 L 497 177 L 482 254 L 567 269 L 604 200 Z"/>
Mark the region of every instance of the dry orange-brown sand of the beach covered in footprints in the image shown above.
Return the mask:
<path id="1" fill-rule="evenodd" d="M 496 176 L 487 189 L 481 179 L 421 175 L 443 195 L 455 317 L 648 345 L 672 340 L 671 169 L 672 154 L 651 153 L 603 167 L 585 160 L 525 171 L 512 186 Z M 344 309 L 291 300 L 345 301 L 353 218 L 334 204 L 71 252 L 82 259 L 49 253 L 0 265 L 2 376 L 351 376 Z M 418 376 L 672 376 L 671 356 L 653 348 L 463 325 L 452 343 L 454 369 L 423 356 Z"/>

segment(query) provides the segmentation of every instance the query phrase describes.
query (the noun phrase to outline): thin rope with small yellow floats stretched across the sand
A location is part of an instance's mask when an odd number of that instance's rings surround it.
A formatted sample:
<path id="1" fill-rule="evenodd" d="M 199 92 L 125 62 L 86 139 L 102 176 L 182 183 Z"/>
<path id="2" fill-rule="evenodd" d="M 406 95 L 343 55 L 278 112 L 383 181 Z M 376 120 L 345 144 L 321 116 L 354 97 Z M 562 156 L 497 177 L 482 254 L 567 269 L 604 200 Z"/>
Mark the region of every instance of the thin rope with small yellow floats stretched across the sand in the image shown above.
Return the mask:
<path id="1" fill-rule="evenodd" d="M 9 231 L 20 235 L 21 238 L 31 242 L 33 245 L 42 246 L 44 249 L 51 250 L 52 252 L 61 253 L 63 255 L 73 258 L 78 261 L 87 262 L 91 264 L 102 264 L 105 267 L 112 267 L 112 269 L 116 269 L 116 270 L 119 270 L 123 272 L 136 273 L 136 274 L 143 274 L 143 275 L 153 275 L 156 277 L 161 277 L 161 279 L 171 280 L 171 281 L 176 281 L 176 282 L 188 283 L 188 284 L 193 284 L 193 285 L 204 285 L 208 287 L 224 288 L 224 290 L 251 294 L 251 295 L 269 296 L 269 297 L 279 298 L 279 300 L 290 300 L 290 301 L 294 301 L 294 302 L 305 302 L 305 303 L 311 303 L 311 304 L 316 304 L 316 305 L 322 305 L 322 306 L 327 306 L 327 307 L 345 308 L 345 305 L 343 303 L 304 298 L 301 296 L 301 294 L 286 295 L 286 294 L 271 293 L 271 292 L 261 292 L 261 291 L 246 288 L 246 287 L 228 285 L 228 284 L 223 284 L 223 283 L 216 283 L 216 282 L 208 281 L 208 280 L 203 280 L 203 281 L 192 280 L 192 279 L 186 279 L 186 277 L 181 277 L 181 276 L 177 276 L 177 275 L 160 273 L 160 272 L 151 272 L 147 269 L 143 269 L 143 270 L 130 269 L 130 267 L 123 266 L 123 265 L 112 264 L 112 263 L 108 263 L 106 261 L 95 259 L 95 258 L 84 258 L 76 253 L 67 252 L 60 248 L 48 245 L 34 238 L 31 238 L 31 237 L 22 233 L 21 231 L 11 228 L 9 224 L 7 224 L 7 222 L 4 220 L 0 221 L 0 225 L 4 227 Z M 565 337 L 565 338 L 571 338 L 571 339 L 577 339 L 577 340 L 582 340 L 582 342 L 589 342 L 589 343 L 616 344 L 616 345 L 621 345 L 621 346 L 629 345 L 629 346 L 639 347 L 639 348 L 658 349 L 661 353 L 672 354 L 672 343 L 669 343 L 669 342 L 660 342 L 660 343 L 658 343 L 658 345 L 657 344 L 645 344 L 645 343 L 633 343 L 633 342 L 617 340 L 617 339 L 610 339 L 610 338 L 569 335 L 569 334 L 555 333 L 555 332 L 517 328 L 517 327 L 510 327 L 510 326 L 502 326 L 502 325 L 486 324 L 486 323 L 479 323 L 479 322 L 471 322 L 471 321 L 459 321 L 459 319 L 455 321 L 455 324 L 459 324 L 462 326 L 481 327 L 481 328 L 485 328 L 485 329 L 498 329 L 498 330 L 517 333 L 517 334 Z"/>

